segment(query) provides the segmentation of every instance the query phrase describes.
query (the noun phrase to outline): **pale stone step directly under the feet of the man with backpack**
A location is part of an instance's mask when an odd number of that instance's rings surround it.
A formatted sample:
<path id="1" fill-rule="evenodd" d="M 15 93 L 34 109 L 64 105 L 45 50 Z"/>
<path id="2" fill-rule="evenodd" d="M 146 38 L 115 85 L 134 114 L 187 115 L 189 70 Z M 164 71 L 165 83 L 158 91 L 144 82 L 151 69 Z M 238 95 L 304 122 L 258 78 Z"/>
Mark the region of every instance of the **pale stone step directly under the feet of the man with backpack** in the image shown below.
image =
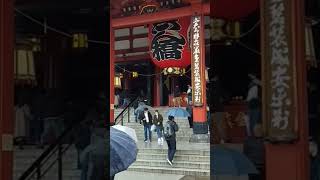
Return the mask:
<path id="1" fill-rule="evenodd" d="M 134 162 L 132 166 L 168 167 L 168 168 L 171 167 L 167 162 L 166 158 L 164 160 L 139 159 L 136 162 Z M 210 162 L 187 162 L 187 161 L 178 161 L 174 159 L 173 167 L 210 170 Z"/>

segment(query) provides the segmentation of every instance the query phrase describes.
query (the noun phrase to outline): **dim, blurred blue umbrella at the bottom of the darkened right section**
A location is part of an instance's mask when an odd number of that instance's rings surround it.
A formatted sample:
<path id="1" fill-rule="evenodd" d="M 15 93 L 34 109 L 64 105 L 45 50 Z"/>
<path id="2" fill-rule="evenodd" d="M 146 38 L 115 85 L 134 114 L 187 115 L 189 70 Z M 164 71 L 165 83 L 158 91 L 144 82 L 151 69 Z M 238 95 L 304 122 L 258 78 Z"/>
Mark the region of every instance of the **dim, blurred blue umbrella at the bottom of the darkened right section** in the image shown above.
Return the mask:
<path id="1" fill-rule="evenodd" d="M 254 164 L 239 151 L 215 145 L 210 152 L 213 175 L 242 176 L 258 173 Z"/>

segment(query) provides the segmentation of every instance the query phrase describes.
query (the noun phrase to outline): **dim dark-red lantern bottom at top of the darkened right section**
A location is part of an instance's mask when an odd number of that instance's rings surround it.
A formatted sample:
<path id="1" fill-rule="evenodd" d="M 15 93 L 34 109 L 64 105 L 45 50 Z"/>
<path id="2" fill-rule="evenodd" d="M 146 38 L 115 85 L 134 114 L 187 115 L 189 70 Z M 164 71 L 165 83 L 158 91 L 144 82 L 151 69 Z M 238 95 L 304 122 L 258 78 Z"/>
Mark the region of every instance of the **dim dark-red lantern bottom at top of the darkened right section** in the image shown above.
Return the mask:
<path id="1" fill-rule="evenodd" d="M 248 16 L 259 7 L 259 0 L 214 0 L 211 16 L 228 20 L 238 20 Z"/>

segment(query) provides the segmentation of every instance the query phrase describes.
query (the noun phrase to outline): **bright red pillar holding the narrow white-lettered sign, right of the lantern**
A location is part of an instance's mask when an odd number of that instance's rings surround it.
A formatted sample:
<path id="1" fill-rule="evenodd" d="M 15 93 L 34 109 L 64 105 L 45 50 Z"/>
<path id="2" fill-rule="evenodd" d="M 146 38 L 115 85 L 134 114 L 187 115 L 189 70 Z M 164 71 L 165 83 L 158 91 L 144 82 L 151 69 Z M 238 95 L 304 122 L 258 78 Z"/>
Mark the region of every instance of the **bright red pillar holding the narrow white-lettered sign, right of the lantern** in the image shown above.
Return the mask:
<path id="1" fill-rule="evenodd" d="M 191 137 L 191 142 L 210 142 L 208 136 L 208 123 L 207 123 L 207 98 L 206 98 L 206 80 L 205 80 L 205 23 L 204 23 L 204 12 L 203 4 L 201 1 L 191 1 L 193 15 L 200 16 L 200 80 L 201 80 L 201 96 L 202 96 L 202 106 L 193 107 L 193 136 Z M 193 36 L 193 34 L 191 35 Z M 192 55 L 193 56 L 193 55 Z M 194 61 L 194 60 L 192 60 Z M 191 66 L 191 76 L 194 76 L 195 68 Z M 194 80 L 193 80 L 194 81 Z M 195 92 L 195 83 L 192 83 L 193 93 Z M 193 98 L 193 103 L 195 103 L 195 98 Z"/>

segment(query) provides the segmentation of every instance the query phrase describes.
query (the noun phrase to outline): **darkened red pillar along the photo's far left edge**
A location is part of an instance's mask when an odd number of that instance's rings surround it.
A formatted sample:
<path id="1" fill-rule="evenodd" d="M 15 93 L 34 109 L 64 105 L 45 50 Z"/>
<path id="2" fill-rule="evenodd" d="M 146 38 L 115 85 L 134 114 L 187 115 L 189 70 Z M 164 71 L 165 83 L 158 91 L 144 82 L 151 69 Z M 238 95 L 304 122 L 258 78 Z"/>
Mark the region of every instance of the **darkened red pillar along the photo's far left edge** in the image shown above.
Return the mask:
<path id="1" fill-rule="evenodd" d="M 0 179 L 13 175 L 14 5 L 0 0 Z"/>

